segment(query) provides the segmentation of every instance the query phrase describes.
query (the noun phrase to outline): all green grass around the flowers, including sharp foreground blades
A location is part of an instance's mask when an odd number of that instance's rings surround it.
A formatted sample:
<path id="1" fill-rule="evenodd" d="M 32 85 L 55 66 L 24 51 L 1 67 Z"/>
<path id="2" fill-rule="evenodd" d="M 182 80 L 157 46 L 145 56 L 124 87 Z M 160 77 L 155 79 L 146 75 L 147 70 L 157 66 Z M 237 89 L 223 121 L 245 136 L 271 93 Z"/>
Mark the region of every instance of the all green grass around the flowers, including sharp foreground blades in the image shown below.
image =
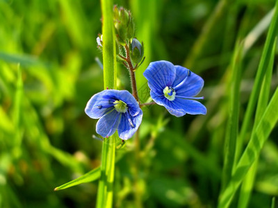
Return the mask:
<path id="1" fill-rule="evenodd" d="M 277 2 L 101 2 L 0 0 L 0 207 L 277 206 Z M 131 90 L 115 64 L 115 3 L 144 42 L 141 100 L 152 61 L 205 82 L 206 116 L 142 109 L 137 155 L 134 138 L 93 139 L 84 112 L 106 87 Z"/>

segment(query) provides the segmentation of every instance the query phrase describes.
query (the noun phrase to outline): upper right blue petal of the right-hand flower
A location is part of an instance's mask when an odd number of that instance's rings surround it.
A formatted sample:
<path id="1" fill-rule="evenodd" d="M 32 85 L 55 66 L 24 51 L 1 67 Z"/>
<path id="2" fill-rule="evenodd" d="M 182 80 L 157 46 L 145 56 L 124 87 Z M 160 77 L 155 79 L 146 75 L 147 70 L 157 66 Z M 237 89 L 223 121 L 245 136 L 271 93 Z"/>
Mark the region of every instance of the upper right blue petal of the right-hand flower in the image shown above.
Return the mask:
<path id="1" fill-rule="evenodd" d="M 181 74 L 185 74 L 187 73 L 186 68 L 181 67 L 181 66 L 175 66 L 176 70 L 177 70 L 177 79 L 174 80 L 174 86 L 175 87 L 177 85 L 179 85 L 179 76 L 186 78 L 186 76 L 182 76 Z M 183 78 L 183 79 L 184 79 Z M 179 96 L 196 96 L 197 94 L 199 94 L 199 92 L 201 92 L 202 88 L 204 87 L 204 80 L 198 76 L 196 73 L 191 72 L 191 75 L 188 76 L 188 78 L 186 78 L 186 81 L 180 85 L 179 87 L 177 87 L 176 90 L 176 94 Z"/>

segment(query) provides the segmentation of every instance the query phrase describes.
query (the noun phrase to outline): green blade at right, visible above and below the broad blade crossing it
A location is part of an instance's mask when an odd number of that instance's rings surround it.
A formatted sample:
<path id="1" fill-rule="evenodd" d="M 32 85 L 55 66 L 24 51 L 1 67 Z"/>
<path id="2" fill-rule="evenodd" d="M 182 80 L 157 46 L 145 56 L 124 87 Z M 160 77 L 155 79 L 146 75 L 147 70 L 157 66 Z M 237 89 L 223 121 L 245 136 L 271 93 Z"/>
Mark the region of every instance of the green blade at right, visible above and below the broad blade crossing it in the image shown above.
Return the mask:
<path id="1" fill-rule="evenodd" d="M 271 78 L 272 78 L 272 68 L 273 68 L 273 63 L 274 63 L 274 58 L 275 58 L 276 43 L 277 43 L 277 38 L 275 39 L 275 44 L 273 45 L 270 62 L 268 64 L 268 69 L 267 69 L 267 71 L 265 73 L 265 77 L 263 79 L 263 85 L 261 87 L 261 92 L 259 95 L 258 106 L 256 108 L 254 129 L 256 128 L 257 124 L 259 123 L 261 116 L 263 116 L 263 112 L 268 105 Z M 250 170 L 248 171 L 245 179 L 243 180 L 243 184 L 240 189 L 240 195 L 239 195 L 239 200 L 238 200 L 238 207 L 240 207 L 240 208 L 247 207 L 248 202 L 250 200 L 252 189 L 254 187 L 254 180 L 255 180 L 255 176 L 256 176 L 256 168 L 257 168 L 258 161 L 259 161 L 259 158 L 256 159 L 256 161 L 254 162 L 254 164 L 251 166 Z"/>

